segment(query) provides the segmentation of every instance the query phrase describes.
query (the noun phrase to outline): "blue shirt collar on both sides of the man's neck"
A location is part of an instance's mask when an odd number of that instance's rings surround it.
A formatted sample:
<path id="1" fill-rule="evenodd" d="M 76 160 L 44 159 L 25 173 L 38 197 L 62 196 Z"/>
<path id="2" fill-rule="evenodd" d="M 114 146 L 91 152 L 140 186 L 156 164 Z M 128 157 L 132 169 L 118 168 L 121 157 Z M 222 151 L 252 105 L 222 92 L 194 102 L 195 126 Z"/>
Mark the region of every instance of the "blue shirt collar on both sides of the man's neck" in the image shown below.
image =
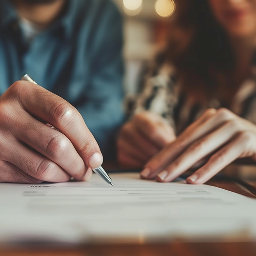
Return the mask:
<path id="1" fill-rule="evenodd" d="M 62 34 L 66 39 L 72 36 L 72 31 L 74 28 L 75 18 L 77 16 L 77 10 L 79 10 L 79 2 L 74 0 L 66 0 L 66 6 L 64 14 L 60 19 L 58 19 L 52 26 L 47 30 L 54 30 L 59 32 L 57 34 Z M 0 0 L 0 28 L 7 29 L 10 24 L 17 22 L 19 15 L 13 6 L 10 3 L 10 0 Z"/>

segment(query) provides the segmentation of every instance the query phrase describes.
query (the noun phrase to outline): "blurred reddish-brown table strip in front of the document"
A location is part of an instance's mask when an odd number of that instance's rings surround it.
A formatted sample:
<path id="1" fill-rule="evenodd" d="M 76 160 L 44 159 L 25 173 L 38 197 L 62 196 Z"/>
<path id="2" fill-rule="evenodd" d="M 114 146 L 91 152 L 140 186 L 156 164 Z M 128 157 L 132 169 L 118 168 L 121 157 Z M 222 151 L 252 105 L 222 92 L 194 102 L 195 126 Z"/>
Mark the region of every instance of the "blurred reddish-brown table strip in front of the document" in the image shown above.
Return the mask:
<path id="1" fill-rule="evenodd" d="M 84 248 L 2 250 L 1 256 L 255 256 L 256 243 L 98 245 Z"/>

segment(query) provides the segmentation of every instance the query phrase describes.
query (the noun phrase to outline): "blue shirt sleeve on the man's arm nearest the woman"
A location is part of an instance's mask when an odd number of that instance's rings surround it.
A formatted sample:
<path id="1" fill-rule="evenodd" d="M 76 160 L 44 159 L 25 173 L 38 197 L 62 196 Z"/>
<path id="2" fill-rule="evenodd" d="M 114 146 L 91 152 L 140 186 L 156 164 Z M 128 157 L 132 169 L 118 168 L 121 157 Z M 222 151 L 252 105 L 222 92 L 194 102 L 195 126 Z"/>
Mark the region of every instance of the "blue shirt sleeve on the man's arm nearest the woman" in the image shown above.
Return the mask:
<path id="1" fill-rule="evenodd" d="M 116 134 L 124 121 L 122 17 L 113 3 L 104 8 L 100 22 L 92 49 L 87 101 L 78 111 L 97 140 L 104 159 L 113 160 Z"/>

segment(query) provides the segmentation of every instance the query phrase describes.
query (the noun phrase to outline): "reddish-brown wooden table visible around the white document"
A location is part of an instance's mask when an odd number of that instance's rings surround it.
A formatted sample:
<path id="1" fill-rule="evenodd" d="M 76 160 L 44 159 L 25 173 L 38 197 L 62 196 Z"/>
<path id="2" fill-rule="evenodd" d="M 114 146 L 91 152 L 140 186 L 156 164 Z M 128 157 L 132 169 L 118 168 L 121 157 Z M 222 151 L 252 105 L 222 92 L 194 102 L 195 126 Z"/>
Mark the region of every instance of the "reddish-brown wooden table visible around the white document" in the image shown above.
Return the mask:
<path id="1" fill-rule="evenodd" d="M 246 167 L 245 167 L 246 168 Z M 254 170 L 254 169 L 253 169 Z M 243 169 L 244 171 L 244 169 Z M 256 167 L 255 167 L 256 172 Z M 228 173 L 228 172 L 227 172 Z M 246 172 L 245 172 L 246 173 Z M 245 196 L 256 198 L 256 177 L 242 180 L 240 173 L 236 178 L 215 177 L 208 185 L 224 188 Z M 256 213 L 255 213 L 256 214 Z M 1 231 L 0 231 L 1 232 Z M 191 243 L 170 241 L 170 243 L 126 243 L 92 244 L 75 247 L 32 246 L 24 248 L 0 248 L 0 256 L 256 256 L 256 241 Z"/>

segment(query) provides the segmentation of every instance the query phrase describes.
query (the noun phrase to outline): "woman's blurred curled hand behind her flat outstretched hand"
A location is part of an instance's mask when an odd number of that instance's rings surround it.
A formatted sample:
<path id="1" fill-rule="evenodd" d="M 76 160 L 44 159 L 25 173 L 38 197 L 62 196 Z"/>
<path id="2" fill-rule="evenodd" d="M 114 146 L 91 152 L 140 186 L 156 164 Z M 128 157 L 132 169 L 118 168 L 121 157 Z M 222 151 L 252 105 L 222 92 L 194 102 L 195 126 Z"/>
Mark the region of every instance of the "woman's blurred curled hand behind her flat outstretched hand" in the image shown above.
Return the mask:
<path id="1" fill-rule="evenodd" d="M 120 131 L 117 140 L 119 162 L 128 167 L 142 168 L 174 139 L 174 130 L 164 118 L 151 112 L 139 113 Z"/>

